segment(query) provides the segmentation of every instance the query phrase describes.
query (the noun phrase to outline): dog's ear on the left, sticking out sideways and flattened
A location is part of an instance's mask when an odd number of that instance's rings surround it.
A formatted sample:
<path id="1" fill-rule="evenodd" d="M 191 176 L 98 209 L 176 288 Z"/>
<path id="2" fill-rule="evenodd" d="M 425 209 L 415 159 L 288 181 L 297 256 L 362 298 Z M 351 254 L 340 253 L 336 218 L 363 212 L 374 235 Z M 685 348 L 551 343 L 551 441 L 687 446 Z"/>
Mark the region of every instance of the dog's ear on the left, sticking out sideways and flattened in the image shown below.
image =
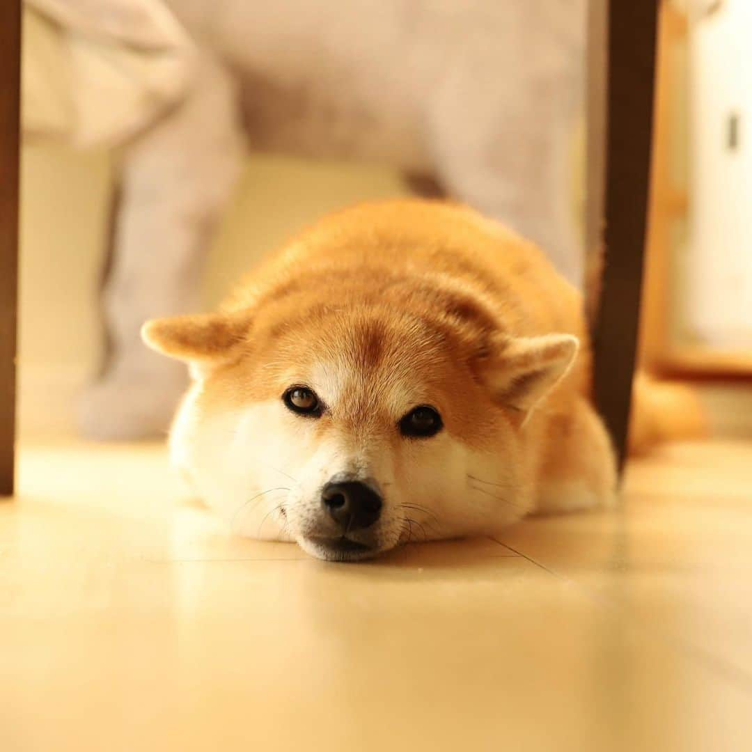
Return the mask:
<path id="1" fill-rule="evenodd" d="M 144 342 L 162 355 L 186 362 L 209 362 L 226 356 L 248 331 L 247 317 L 196 314 L 153 319 L 141 327 Z"/>

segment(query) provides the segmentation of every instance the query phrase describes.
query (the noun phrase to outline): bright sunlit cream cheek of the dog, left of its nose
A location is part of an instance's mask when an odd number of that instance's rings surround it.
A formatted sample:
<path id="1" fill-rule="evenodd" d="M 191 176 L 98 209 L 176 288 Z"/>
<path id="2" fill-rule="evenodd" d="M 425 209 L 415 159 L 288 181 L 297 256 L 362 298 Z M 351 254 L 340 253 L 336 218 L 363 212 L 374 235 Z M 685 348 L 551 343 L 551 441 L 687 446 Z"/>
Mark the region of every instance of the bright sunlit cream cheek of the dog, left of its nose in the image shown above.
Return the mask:
<path id="1" fill-rule="evenodd" d="M 201 390 L 195 384 L 180 407 L 172 459 L 232 532 L 301 542 L 330 522 L 321 491 L 332 477 L 388 485 L 388 475 L 347 441 L 317 438 L 315 419 L 293 414 L 281 400 L 209 413 L 202 410 Z"/>

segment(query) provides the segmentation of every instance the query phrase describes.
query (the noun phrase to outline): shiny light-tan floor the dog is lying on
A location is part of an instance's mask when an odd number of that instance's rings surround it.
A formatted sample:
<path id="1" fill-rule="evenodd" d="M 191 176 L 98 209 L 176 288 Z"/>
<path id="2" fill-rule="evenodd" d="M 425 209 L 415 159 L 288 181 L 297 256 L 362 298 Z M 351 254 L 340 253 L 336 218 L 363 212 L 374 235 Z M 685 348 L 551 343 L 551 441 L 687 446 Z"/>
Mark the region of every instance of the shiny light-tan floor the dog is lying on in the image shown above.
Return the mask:
<path id="1" fill-rule="evenodd" d="M 326 564 L 228 538 L 162 447 L 23 447 L 0 749 L 752 749 L 752 444 L 622 510 Z"/>

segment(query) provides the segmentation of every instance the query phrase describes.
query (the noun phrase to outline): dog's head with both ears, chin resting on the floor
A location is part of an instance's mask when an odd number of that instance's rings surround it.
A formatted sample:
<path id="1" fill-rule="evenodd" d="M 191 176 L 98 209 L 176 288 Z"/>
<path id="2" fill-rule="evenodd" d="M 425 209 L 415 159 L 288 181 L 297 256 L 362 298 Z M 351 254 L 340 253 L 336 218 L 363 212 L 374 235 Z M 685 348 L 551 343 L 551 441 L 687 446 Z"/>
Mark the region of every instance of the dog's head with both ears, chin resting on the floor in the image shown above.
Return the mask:
<path id="1" fill-rule="evenodd" d="M 167 320 L 145 336 L 193 362 L 173 450 L 203 498 L 244 535 L 335 560 L 529 511 L 523 423 L 576 349 L 537 338 L 495 356 L 379 310 Z"/>

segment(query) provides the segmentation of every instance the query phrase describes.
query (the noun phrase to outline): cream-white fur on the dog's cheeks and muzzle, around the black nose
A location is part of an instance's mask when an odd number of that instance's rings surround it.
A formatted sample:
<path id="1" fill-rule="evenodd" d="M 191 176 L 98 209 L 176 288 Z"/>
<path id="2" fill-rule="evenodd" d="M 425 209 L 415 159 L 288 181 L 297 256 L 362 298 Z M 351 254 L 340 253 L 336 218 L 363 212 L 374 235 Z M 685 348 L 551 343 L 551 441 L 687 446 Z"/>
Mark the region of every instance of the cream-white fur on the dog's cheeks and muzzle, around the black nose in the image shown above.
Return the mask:
<path id="1" fill-rule="evenodd" d="M 328 386 L 332 399 L 337 384 Z M 312 387 L 324 392 L 320 384 Z M 393 400 L 398 397 L 404 395 Z M 448 429 L 422 439 L 397 430 L 382 426 L 353 435 L 335 426 L 322 437 L 315 418 L 290 412 L 280 399 L 208 411 L 199 382 L 180 407 L 171 448 L 175 464 L 233 532 L 294 540 L 314 556 L 328 556 L 317 535 L 338 532 L 321 491 L 343 474 L 371 481 L 383 496 L 374 527 L 353 533 L 375 543 L 370 553 L 500 529 L 529 511 L 532 495 L 520 489 L 514 463 L 470 449 Z"/>

